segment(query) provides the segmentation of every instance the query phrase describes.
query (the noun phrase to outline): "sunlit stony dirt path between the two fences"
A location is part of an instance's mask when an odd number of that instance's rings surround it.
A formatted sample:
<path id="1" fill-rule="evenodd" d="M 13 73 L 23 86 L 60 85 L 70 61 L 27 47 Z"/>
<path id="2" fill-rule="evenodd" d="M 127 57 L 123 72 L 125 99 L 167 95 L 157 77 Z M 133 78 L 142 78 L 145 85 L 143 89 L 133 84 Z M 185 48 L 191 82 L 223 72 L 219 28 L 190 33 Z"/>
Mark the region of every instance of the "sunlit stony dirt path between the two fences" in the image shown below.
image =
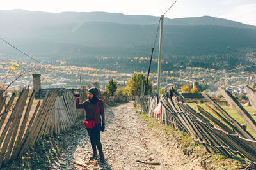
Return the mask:
<path id="1" fill-rule="evenodd" d="M 189 159 L 173 139 L 156 138 L 140 115 L 132 110 L 132 102 L 106 110 L 106 131 L 101 141 L 106 163 L 88 164 L 99 169 L 202 169 L 196 159 Z M 83 131 L 84 130 L 84 131 Z M 85 129 L 81 136 L 67 148 L 60 161 L 51 169 L 82 169 L 73 162 L 87 162 L 92 149 Z M 76 145 L 74 145 L 76 144 Z M 161 165 L 148 165 L 136 160 L 154 159 Z M 63 166 L 65 165 L 65 166 Z"/>

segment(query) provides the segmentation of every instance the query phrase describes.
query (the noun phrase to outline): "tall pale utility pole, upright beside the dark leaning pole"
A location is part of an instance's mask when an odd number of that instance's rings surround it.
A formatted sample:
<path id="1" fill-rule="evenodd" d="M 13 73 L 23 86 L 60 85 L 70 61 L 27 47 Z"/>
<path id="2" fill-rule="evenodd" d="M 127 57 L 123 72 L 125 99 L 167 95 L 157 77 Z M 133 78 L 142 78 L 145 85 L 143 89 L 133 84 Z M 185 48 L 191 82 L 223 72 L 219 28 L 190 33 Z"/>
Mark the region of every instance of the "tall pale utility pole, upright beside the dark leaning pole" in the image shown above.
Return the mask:
<path id="1" fill-rule="evenodd" d="M 158 69 L 157 69 L 157 95 L 159 96 L 160 90 L 160 76 L 161 76 L 161 54 L 162 54 L 162 43 L 163 43 L 163 26 L 164 26 L 164 15 L 161 15 L 161 27 L 159 36 L 159 53 L 158 53 Z"/>

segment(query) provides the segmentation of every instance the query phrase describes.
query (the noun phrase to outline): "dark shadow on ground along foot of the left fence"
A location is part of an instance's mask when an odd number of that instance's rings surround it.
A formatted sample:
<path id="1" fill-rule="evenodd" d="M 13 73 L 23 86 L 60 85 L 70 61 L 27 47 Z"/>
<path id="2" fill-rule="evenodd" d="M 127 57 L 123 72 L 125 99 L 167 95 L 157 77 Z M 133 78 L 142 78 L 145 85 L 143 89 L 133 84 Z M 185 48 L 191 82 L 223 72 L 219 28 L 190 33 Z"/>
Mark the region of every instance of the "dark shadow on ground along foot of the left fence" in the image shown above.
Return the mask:
<path id="1" fill-rule="evenodd" d="M 109 108 L 106 108 L 106 129 L 113 120 L 113 111 L 115 109 L 109 111 Z M 91 153 L 92 148 L 89 146 L 90 139 L 83 127 L 83 118 L 79 118 L 72 131 L 41 139 L 33 148 L 28 148 L 21 157 L 11 160 L 0 169 L 74 169 L 74 153 L 77 152 L 77 148 L 83 148 L 80 150 L 82 153 Z M 89 156 L 84 155 L 84 159 L 89 159 Z M 107 162 L 97 162 L 102 169 L 111 169 Z"/>

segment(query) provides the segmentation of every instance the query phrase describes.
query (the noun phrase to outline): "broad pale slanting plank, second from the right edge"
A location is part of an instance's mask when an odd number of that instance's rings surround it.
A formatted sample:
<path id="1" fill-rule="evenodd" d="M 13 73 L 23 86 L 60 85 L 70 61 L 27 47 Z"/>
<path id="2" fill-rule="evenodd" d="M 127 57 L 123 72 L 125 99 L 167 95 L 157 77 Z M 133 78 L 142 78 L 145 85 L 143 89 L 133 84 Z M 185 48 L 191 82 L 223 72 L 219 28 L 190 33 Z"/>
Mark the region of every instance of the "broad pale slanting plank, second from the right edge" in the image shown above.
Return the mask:
<path id="1" fill-rule="evenodd" d="M 256 122 L 252 118 L 252 116 L 246 111 L 243 106 L 235 99 L 230 92 L 223 89 L 222 87 L 218 87 L 221 94 L 225 97 L 227 102 L 236 110 L 236 112 L 243 118 L 246 124 L 252 129 L 252 131 L 256 134 Z"/>

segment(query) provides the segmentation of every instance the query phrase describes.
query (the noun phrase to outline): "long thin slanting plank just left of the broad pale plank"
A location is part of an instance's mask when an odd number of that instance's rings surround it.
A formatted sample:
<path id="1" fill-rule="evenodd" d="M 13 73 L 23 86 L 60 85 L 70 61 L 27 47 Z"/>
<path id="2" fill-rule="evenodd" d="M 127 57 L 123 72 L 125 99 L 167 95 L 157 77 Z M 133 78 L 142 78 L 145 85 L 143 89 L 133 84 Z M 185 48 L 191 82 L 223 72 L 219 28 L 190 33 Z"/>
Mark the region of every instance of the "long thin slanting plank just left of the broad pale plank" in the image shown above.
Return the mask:
<path id="1" fill-rule="evenodd" d="M 212 106 L 214 106 L 214 108 L 216 108 L 218 111 L 220 111 L 220 113 L 227 118 L 227 120 L 234 125 L 234 130 L 241 136 L 243 136 L 244 138 L 247 139 L 254 139 L 252 134 L 250 134 L 248 131 L 246 131 L 246 129 L 244 129 L 234 118 L 230 117 L 230 115 L 223 110 L 223 108 L 221 108 L 221 106 L 219 104 L 217 104 L 215 101 L 213 101 L 211 99 L 211 97 L 209 97 L 207 94 L 205 94 L 204 92 L 202 93 L 202 96 L 205 97 L 205 99 L 207 101 L 209 101 L 209 103 L 212 104 Z"/>

